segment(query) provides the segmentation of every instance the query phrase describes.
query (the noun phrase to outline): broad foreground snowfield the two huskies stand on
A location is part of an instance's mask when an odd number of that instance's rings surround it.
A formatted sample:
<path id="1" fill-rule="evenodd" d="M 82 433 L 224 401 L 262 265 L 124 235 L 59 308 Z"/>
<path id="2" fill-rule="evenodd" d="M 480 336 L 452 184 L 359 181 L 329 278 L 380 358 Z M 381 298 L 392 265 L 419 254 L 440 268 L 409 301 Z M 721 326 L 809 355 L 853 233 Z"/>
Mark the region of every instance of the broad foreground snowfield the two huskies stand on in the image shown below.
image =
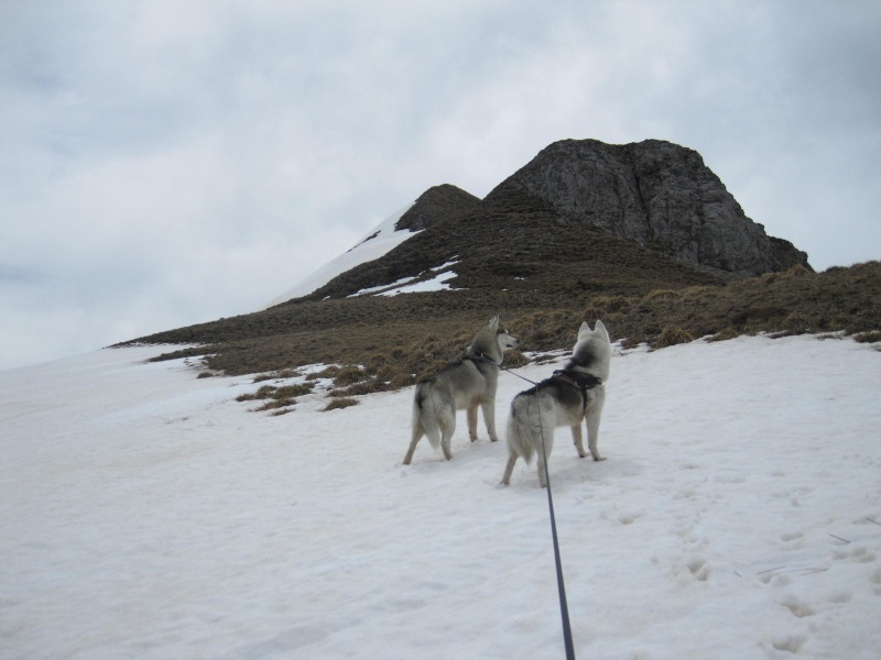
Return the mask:
<path id="1" fill-rule="evenodd" d="M 563 657 L 534 465 L 460 413 L 403 466 L 412 389 L 271 417 L 164 350 L 0 372 L 0 657 Z M 877 658 L 880 386 L 849 339 L 617 349 L 607 460 L 550 461 L 576 656 Z"/>

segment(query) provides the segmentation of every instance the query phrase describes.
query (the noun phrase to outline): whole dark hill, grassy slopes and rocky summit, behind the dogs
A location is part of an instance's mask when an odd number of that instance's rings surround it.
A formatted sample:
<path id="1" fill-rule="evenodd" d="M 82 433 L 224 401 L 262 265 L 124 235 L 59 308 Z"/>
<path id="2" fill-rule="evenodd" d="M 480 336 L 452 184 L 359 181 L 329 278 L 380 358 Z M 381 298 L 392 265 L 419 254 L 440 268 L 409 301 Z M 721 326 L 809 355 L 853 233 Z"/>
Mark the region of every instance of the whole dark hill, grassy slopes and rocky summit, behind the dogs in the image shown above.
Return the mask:
<path id="1" fill-rule="evenodd" d="M 630 169 L 616 165 L 610 169 L 614 176 L 600 176 L 597 154 L 603 167 L 622 161 L 631 163 Z M 597 178 L 618 189 L 620 231 L 585 220 L 594 208 L 591 196 L 602 198 L 596 209 L 611 204 L 606 193 L 588 185 Z M 633 186 L 639 204 L 622 193 Z M 631 235 L 642 211 L 655 233 Z M 606 217 L 592 211 L 600 216 Z M 881 290 L 878 264 L 814 274 L 804 253 L 766 237 L 743 216 L 699 155 L 670 143 L 564 141 L 483 200 L 455 186 L 437 186 L 393 227 L 385 224 L 383 232 L 393 230 L 398 237 L 385 243 L 388 251 L 326 277 L 308 294 L 260 312 L 126 343 L 199 344 L 167 356 L 206 355 L 209 370 L 228 374 L 316 362 L 360 364 L 373 386 L 382 388 L 412 383 L 456 356 L 475 328 L 496 314 L 529 351 L 566 346 L 581 319 L 599 315 L 610 321 L 613 337 L 631 342 L 656 342 L 667 330 L 700 337 L 881 327 L 872 302 Z M 682 228 L 696 237 L 686 248 L 704 263 L 689 261 L 688 253 L 671 254 L 673 243 L 663 244 L 667 229 L 674 235 Z M 736 252 L 725 253 L 727 261 L 710 265 L 710 257 L 722 254 L 714 245 L 729 234 L 747 238 L 738 239 Z M 374 233 L 351 252 L 372 249 L 371 242 L 384 235 Z M 752 241 L 754 250 L 738 261 L 732 254 L 743 253 L 744 241 Z M 793 264 L 792 277 L 739 282 L 750 270 L 774 272 Z M 452 290 L 378 295 L 393 293 L 401 283 L 438 277 Z M 842 297 L 842 290 L 852 290 L 855 298 Z"/>

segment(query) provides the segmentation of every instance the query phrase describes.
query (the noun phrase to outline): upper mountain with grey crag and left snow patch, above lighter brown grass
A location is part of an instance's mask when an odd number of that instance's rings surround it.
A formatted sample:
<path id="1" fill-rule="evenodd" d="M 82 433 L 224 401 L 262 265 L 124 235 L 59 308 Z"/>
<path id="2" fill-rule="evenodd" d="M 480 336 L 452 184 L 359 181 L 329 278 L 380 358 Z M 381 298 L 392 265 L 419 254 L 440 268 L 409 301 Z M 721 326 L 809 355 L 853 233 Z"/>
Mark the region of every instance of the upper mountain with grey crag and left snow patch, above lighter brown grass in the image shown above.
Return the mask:
<path id="1" fill-rule="evenodd" d="M 322 277 L 273 302 L 423 283 L 452 261 L 449 286 L 509 292 L 576 264 L 576 280 L 595 292 L 809 268 L 804 252 L 743 213 L 696 151 L 663 140 L 562 140 L 483 200 L 450 184 L 428 188 Z"/>

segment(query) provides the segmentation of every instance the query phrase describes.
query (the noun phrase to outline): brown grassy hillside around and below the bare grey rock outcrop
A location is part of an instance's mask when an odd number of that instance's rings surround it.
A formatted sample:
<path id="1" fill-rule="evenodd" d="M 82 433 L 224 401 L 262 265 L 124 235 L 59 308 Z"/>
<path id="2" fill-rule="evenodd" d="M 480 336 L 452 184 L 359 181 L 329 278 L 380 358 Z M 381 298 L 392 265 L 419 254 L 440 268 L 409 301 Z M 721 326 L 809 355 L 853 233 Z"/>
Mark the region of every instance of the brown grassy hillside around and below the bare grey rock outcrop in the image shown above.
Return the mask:
<path id="1" fill-rule="evenodd" d="M 426 229 L 307 297 L 126 343 L 198 344 L 159 360 L 198 356 L 203 375 L 349 365 L 328 374 L 342 396 L 414 383 L 457 358 L 496 314 L 526 352 L 570 348 L 580 322 L 597 318 L 614 339 L 654 348 L 760 331 L 881 330 L 879 262 L 726 283 L 503 186 L 491 202 L 452 186 L 432 189 L 409 221 Z M 434 277 L 431 268 L 453 261 L 455 290 L 349 297 L 403 277 Z M 525 361 L 520 353 L 508 360 Z"/>

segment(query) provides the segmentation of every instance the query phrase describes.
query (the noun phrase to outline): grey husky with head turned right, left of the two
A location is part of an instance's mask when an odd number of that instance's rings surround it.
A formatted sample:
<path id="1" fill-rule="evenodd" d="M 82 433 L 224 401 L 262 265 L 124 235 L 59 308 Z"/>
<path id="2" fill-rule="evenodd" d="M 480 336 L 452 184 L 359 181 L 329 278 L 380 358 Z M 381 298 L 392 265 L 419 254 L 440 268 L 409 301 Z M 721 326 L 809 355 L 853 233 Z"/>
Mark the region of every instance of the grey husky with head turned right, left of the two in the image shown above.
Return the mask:
<path id="1" fill-rule="evenodd" d="M 465 355 L 448 364 L 436 374 L 416 385 L 413 397 L 413 437 L 404 457 L 404 465 L 410 465 L 413 452 L 423 436 L 428 442 L 444 451 L 448 461 L 453 458 L 449 442 L 456 430 L 456 410 L 465 408 L 468 418 L 468 435 L 471 442 L 477 440 L 477 407 L 483 410 L 489 439 L 496 442 L 496 389 L 499 384 L 499 365 L 508 349 L 518 341 L 499 324 L 499 317 L 492 317 L 483 326 Z"/>

